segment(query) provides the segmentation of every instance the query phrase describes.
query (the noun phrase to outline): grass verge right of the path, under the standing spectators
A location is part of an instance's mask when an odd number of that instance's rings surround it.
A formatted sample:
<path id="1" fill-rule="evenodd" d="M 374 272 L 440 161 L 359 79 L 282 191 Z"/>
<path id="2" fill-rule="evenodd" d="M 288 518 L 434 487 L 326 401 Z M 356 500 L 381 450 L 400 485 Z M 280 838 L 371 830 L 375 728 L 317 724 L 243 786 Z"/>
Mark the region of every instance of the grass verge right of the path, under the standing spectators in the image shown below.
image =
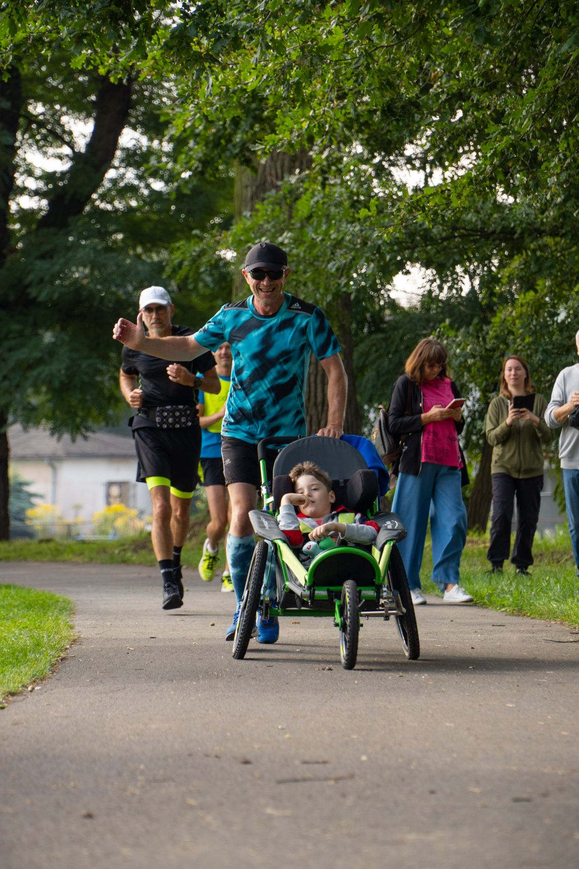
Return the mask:
<path id="1" fill-rule="evenodd" d="M 535 539 L 535 563 L 530 567 L 529 576 L 516 576 L 515 567 L 509 561 L 505 561 L 502 574 L 489 574 L 488 547 L 488 535 L 469 537 L 460 565 L 461 585 L 477 604 L 503 613 L 579 626 L 579 579 L 567 531 Z M 431 569 L 429 538 L 424 548 L 420 581 L 427 594 L 440 595 L 438 587 L 430 580 Z"/>

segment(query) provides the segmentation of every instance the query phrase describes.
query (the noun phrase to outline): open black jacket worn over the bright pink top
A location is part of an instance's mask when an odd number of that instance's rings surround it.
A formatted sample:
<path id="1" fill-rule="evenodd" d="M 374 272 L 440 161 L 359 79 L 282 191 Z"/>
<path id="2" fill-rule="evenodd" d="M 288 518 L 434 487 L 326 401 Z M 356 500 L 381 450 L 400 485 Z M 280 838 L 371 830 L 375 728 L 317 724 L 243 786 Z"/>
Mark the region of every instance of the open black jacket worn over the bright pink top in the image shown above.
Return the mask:
<path id="1" fill-rule="evenodd" d="M 410 412 L 406 415 L 406 406 L 408 402 L 408 384 L 411 383 L 411 401 Z M 460 398 L 460 389 L 454 381 L 451 381 L 452 395 L 455 398 Z M 418 383 L 411 381 L 406 375 L 398 377 L 392 390 L 390 408 L 388 409 L 388 427 L 392 434 L 405 434 L 405 444 L 402 449 L 397 465 L 398 468 L 392 468 L 396 474 L 412 474 L 418 476 L 420 466 L 422 465 L 422 433 L 424 426 L 420 421 L 422 409 L 422 390 Z M 464 420 L 455 422 L 457 434 L 460 434 L 464 428 Z M 460 448 L 460 457 L 463 460 L 463 468 L 461 470 L 461 485 L 466 486 L 469 482 L 469 474 L 466 470 L 466 461 L 464 454 Z"/>

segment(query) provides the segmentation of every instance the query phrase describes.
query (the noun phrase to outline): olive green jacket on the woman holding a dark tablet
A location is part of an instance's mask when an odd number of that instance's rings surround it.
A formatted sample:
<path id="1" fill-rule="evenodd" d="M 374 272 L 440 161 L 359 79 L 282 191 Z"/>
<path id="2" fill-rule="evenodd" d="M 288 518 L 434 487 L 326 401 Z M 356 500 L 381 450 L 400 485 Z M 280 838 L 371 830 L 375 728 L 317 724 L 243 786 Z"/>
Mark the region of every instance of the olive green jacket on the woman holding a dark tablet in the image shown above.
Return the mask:
<path id="1" fill-rule="evenodd" d="M 543 443 L 551 440 L 552 433 L 544 420 L 547 402 L 536 393 L 533 413 L 541 420 L 535 428 L 530 420 L 515 420 L 511 426 L 505 422 L 509 415 L 509 401 L 497 395 L 490 402 L 486 415 L 486 439 L 492 447 L 491 474 L 509 474 L 523 479 L 543 474 Z"/>

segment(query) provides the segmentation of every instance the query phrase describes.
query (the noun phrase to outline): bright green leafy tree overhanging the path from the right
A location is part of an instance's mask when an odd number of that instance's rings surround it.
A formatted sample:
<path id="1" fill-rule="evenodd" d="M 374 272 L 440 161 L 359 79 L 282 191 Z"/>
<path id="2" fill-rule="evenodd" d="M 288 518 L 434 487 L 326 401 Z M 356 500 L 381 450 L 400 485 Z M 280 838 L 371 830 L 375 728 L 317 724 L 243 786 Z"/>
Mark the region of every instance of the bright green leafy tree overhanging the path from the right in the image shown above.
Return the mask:
<path id="1" fill-rule="evenodd" d="M 95 33 L 87 21 L 97 7 Z M 504 345 L 520 342 L 527 309 L 555 317 L 548 335 L 531 330 L 543 346 L 557 344 L 553 331 L 562 343 L 572 336 L 576 3 L 153 2 L 132 3 L 130 15 L 88 3 L 78 15 L 60 2 L 38 7 L 26 28 L 39 34 L 56 20 L 79 69 L 126 80 L 136 63 L 141 76 L 174 76 L 168 114 L 176 140 L 188 141 L 178 173 L 308 154 L 303 176 L 235 237 L 285 229 L 300 267 L 314 267 L 308 297 L 343 311 L 339 330 L 350 320 L 357 350 L 380 313 L 391 315 L 393 275 L 426 269 L 421 311 L 441 318 L 457 379 L 475 398 L 478 437 L 493 372 Z M 556 353 L 535 352 L 530 362 L 546 376 Z"/>

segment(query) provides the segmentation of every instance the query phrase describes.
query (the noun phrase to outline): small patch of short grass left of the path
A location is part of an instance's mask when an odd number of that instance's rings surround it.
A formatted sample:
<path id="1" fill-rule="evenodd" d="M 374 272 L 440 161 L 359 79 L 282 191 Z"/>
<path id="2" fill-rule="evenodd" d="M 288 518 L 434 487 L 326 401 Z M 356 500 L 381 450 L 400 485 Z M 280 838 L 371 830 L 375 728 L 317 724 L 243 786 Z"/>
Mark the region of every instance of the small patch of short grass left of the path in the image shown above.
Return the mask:
<path id="1" fill-rule="evenodd" d="M 72 600 L 0 585 L 0 698 L 43 679 L 73 639 Z"/>

